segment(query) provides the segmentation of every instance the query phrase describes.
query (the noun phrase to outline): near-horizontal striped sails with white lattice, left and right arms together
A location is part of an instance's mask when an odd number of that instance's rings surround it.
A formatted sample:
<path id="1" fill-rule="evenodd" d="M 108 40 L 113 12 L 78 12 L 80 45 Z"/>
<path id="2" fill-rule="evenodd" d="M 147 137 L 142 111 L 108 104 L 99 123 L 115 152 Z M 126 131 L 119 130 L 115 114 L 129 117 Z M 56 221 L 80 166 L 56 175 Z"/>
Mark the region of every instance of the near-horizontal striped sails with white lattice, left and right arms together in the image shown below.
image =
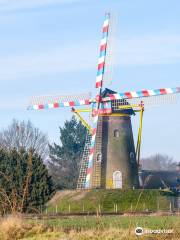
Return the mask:
<path id="1" fill-rule="evenodd" d="M 129 103 L 137 103 L 139 100 L 144 101 L 145 105 L 160 105 L 163 103 L 176 103 L 177 94 L 180 93 L 180 87 L 160 88 L 142 91 L 130 91 L 124 93 L 111 94 L 109 97 L 102 98 L 101 109 L 107 109 L 106 102 L 117 99 L 127 99 Z M 58 107 L 72 107 L 96 104 L 96 99 L 91 99 L 90 93 L 76 95 L 56 95 L 32 97 L 29 102 L 28 110 L 41 110 Z M 104 110 L 104 111 L 105 111 Z M 107 114 L 110 112 L 107 111 Z"/>

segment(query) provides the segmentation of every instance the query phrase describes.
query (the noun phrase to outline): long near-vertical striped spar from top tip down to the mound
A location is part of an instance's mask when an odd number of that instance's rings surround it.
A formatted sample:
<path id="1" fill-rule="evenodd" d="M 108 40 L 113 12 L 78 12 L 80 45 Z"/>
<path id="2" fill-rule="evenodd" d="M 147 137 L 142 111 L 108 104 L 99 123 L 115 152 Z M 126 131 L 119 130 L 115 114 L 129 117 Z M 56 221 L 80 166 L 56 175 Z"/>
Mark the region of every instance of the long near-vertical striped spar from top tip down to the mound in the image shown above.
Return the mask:
<path id="1" fill-rule="evenodd" d="M 95 152 L 95 140 L 96 140 L 96 132 L 98 126 L 98 116 L 99 116 L 99 108 L 101 105 L 101 91 L 103 86 L 103 77 L 104 77 L 104 70 L 105 70 L 105 59 L 106 59 L 106 48 L 107 48 L 107 39 L 108 39 L 108 31 L 109 31 L 109 20 L 110 14 L 105 14 L 105 20 L 103 23 L 103 30 L 102 30 L 102 39 L 100 43 L 100 55 L 98 59 L 98 70 L 96 76 L 96 88 L 98 88 L 98 93 L 95 103 L 95 114 L 93 116 L 93 131 L 92 131 L 92 138 L 91 138 L 91 145 L 89 150 L 89 158 L 88 158 L 88 168 L 87 168 L 87 175 L 86 175 L 86 182 L 85 188 L 91 187 L 92 181 L 92 168 L 93 168 L 93 158 Z"/>

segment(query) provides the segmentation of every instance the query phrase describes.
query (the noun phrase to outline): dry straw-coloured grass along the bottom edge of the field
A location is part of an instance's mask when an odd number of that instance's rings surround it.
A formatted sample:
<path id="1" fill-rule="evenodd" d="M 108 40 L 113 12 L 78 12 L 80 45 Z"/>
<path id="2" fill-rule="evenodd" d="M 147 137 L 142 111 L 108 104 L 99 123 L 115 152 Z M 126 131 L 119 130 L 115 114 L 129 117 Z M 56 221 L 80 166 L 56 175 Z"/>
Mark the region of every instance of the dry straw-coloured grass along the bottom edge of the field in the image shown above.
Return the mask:
<path id="1" fill-rule="evenodd" d="M 75 219 L 78 220 L 80 219 Z M 144 229 L 148 228 L 149 224 L 146 222 L 146 225 L 147 227 L 143 226 Z M 156 228 L 159 229 L 159 226 L 157 225 Z M 0 240 L 179 240 L 179 224 L 169 225 L 168 228 L 173 228 L 173 234 L 147 234 L 137 237 L 134 232 L 135 226 L 130 223 L 123 228 L 111 221 L 109 227 L 83 229 L 72 226 L 50 226 L 47 223 L 25 220 L 21 215 L 11 215 L 0 220 Z"/>

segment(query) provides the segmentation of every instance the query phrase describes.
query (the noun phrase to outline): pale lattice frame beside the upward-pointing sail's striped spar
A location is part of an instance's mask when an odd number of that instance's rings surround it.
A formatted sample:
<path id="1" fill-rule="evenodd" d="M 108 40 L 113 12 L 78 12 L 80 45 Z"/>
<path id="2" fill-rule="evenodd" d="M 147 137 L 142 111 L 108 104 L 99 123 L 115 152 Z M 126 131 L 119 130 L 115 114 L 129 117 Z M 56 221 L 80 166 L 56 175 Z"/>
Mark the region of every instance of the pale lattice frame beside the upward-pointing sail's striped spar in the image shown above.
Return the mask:
<path id="1" fill-rule="evenodd" d="M 116 66 L 117 58 L 117 26 L 118 26 L 118 15 L 111 13 L 109 19 L 109 33 L 107 40 L 107 49 L 106 49 L 106 68 L 104 71 L 103 85 L 109 86 L 112 83 L 114 77 L 114 70 Z"/>

